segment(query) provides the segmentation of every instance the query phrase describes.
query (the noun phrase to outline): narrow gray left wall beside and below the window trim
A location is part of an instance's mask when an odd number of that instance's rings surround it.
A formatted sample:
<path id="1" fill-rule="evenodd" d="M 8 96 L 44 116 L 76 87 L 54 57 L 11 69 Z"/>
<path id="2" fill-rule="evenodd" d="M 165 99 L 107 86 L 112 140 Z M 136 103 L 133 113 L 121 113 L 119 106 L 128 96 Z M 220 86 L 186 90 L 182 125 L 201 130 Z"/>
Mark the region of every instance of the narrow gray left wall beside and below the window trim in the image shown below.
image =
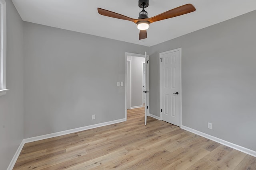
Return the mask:
<path id="1" fill-rule="evenodd" d="M 11 0 L 7 12 L 7 88 L 0 96 L 0 169 L 8 167 L 23 139 L 23 21 Z"/>

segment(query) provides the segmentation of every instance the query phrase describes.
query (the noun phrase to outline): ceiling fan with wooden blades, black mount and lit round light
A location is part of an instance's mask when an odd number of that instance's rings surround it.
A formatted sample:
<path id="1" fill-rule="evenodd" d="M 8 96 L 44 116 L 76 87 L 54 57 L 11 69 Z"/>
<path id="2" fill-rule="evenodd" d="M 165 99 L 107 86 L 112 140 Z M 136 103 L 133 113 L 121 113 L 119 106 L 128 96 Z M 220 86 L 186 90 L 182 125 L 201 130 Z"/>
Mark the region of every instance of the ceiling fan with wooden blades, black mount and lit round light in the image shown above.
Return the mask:
<path id="1" fill-rule="evenodd" d="M 148 29 L 150 23 L 160 21 L 160 20 L 165 20 L 168 18 L 173 18 L 176 16 L 181 16 L 184 14 L 188 14 L 190 12 L 194 12 L 196 10 L 196 8 L 192 4 L 186 4 L 186 5 L 182 5 L 177 8 L 174 8 L 172 10 L 166 11 L 157 16 L 148 18 L 148 12 L 146 12 L 144 9 L 148 7 L 148 0 L 139 0 L 139 7 L 142 8 L 142 11 L 140 12 L 140 16 L 138 19 L 130 18 L 112 11 L 104 10 L 102 8 L 98 8 L 98 13 L 103 16 L 118 18 L 122 20 L 128 20 L 136 23 L 137 28 L 140 29 L 139 39 L 145 39 L 147 37 L 146 30 Z"/>

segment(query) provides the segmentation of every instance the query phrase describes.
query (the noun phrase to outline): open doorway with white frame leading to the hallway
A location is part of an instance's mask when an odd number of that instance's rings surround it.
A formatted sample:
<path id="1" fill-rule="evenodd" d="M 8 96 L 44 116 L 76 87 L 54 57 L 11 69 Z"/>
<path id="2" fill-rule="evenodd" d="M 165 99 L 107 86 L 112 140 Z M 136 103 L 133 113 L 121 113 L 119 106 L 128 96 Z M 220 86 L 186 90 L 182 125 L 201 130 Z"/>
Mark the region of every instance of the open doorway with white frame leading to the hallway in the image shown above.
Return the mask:
<path id="1" fill-rule="evenodd" d="M 147 69 L 146 61 L 148 56 L 126 53 L 126 94 L 125 94 L 125 118 L 127 120 L 127 109 L 144 108 L 145 118 L 148 115 L 149 106 L 145 103 L 147 99 Z M 149 103 L 149 102 L 148 102 Z M 148 104 L 147 104 L 148 105 Z M 147 109 L 146 109 L 147 108 Z M 146 119 L 145 119 L 146 120 Z"/>

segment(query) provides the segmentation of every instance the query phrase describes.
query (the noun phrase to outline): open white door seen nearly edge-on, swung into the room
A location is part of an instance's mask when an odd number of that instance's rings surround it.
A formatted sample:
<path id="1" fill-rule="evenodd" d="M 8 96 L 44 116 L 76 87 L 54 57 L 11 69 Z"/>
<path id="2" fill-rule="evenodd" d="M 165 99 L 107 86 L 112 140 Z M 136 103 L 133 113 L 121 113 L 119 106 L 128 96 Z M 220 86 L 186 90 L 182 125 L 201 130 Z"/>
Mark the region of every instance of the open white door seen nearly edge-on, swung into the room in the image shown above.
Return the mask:
<path id="1" fill-rule="evenodd" d="M 147 117 L 149 115 L 149 56 L 147 56 L 147 52 L 145 51 L 145 125 L 147 125 Z"/>

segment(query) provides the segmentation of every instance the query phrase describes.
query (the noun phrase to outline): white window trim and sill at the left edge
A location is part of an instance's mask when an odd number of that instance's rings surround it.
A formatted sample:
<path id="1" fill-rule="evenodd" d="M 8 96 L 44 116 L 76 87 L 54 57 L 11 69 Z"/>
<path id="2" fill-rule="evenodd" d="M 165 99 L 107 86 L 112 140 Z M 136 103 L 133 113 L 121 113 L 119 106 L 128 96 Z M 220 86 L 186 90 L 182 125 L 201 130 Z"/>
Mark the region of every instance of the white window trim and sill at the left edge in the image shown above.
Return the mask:
<path id="1" fill-rule="evenodd" d="M 6 94 L 6 2 L 0 0 L 0 96 Z"/>

